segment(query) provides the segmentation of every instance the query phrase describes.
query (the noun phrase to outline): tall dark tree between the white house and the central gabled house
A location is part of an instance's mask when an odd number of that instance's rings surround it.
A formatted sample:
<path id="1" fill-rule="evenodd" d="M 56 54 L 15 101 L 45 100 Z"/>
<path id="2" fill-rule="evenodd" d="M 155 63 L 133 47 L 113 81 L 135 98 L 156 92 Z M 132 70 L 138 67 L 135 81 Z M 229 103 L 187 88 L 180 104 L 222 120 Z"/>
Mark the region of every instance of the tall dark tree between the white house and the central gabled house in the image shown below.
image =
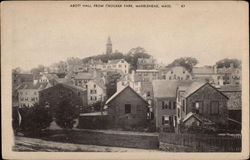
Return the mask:
<path id="1" fill-rule="evenodd" d="M 106 84 L 107 98 L 111 97 L 117 91 L 116 82 L 120 77 L 121 74 L 118 72 L 113 72 L 113 71 L 108 72 L 107 84 Z"/>

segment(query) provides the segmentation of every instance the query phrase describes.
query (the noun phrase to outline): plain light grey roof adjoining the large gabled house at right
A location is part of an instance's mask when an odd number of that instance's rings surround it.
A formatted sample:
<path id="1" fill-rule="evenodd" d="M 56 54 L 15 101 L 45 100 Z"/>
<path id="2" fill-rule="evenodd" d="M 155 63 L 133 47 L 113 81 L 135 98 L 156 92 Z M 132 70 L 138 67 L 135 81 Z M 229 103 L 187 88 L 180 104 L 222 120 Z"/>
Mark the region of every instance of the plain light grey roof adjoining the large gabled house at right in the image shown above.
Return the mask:
<path id="1" fill-rule="evenodd" d="M 178 86 L 190 85 L 193 81 L 191 80 L 154 80 L 153 92 L 155 98 L 164 97 L 176 97 L 176 91 Z"/>

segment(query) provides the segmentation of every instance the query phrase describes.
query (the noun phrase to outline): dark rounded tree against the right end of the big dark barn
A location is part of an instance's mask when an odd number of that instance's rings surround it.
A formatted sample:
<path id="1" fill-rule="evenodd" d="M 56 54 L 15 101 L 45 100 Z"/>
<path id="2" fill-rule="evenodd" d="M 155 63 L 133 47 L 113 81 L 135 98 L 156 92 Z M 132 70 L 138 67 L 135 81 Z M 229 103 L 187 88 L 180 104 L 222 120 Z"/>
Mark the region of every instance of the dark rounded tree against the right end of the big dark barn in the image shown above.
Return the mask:
<path id="1" fill-rule="evenodd" d="M 55 108 L 56 123 L 62 128 L 72 129 L 79 114 L 79 107 L 74 106 L 70 99 L 62 99 Z"/>

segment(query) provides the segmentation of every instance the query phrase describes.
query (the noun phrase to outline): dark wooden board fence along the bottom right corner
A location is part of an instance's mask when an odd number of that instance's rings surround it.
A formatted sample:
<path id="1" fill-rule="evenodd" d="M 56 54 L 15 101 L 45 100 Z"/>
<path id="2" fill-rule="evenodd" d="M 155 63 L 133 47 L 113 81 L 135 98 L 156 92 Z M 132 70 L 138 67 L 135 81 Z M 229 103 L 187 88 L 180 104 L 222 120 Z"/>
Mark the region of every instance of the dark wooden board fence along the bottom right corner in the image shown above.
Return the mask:
<path id="1" fill-rule="evenodd" d="M 241 136 L 160 133 L 160 144 L 185 146 L 198 152 L 241 152 Z"/>

